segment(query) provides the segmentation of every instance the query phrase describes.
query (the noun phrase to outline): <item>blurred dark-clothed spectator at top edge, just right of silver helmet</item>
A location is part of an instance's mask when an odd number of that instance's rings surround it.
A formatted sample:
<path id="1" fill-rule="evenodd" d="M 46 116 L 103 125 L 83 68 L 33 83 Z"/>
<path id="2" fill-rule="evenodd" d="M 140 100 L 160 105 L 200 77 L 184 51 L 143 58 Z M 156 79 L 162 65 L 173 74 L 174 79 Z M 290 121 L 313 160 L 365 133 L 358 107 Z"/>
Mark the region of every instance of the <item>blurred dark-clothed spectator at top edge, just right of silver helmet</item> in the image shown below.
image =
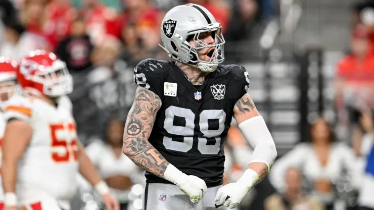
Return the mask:
<path id="1" fill-rule="evenodd" d="M 255 0 L 235 1 L 225 39 L 228 41 L 248 39 L 256 13 L 257 3 Z"/>

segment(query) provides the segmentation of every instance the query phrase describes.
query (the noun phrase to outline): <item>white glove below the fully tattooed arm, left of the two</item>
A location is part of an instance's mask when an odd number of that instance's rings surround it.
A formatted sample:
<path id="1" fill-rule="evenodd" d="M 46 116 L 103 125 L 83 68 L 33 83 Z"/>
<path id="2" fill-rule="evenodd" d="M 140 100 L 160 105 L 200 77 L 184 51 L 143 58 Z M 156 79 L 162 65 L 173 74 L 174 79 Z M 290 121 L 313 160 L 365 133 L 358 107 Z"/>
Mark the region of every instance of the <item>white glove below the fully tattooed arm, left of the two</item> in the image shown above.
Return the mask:
<path id="1" fill-rule="evenodd" d="M 207 192 L 204 180 L 197 176 L 188 176 L 173 165 L 169 164 L 164 173 L 164 179 L 174 183 L 179 189 L 190 197 L 191 202 L 197 204 Z"/>

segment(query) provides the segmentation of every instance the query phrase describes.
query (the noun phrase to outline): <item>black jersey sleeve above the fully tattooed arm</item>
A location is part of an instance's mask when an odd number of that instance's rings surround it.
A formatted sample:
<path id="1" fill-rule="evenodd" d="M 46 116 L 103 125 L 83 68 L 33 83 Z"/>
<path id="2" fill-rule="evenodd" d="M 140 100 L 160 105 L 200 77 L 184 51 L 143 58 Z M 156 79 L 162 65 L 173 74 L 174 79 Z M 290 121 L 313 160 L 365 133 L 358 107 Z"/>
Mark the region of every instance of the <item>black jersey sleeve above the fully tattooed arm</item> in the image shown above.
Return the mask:
<path id="1" fill-rule="evenodd" d="M 163 98 L 162 65 L 155 59 L 141 61 L 134 68 L 134 82 Z"/>

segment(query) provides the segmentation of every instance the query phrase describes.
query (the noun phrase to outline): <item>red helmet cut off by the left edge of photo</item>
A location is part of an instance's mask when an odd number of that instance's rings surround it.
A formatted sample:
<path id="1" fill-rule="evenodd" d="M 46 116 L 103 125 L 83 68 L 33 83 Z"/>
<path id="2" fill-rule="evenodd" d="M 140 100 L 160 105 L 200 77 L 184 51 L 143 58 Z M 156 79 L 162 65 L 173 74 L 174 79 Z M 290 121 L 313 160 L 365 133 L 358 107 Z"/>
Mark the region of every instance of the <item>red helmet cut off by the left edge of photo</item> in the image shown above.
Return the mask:
<path id="1" fill-rule="evenodd" d="M 16 92 L 18 64 L 15 60 L 0 57 L 0 101 L 6 101 Z"/>

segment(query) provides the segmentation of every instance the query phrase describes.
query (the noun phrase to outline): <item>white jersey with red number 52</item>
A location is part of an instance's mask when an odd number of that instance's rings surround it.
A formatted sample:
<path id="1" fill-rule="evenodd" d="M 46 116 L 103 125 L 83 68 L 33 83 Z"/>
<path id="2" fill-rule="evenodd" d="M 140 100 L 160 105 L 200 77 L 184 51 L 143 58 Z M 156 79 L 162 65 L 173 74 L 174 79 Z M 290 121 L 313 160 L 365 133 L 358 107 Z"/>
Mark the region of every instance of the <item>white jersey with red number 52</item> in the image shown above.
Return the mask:
<path id="1" fill-rule="evenodd" d="M 70 99 L 61 97 L 55 107 L 39 98 L 14 96 L 6 103 L 5 118 L 7 121 L 24 120 L 33 131 L 18 163 L 16 194 L 19 202 L 47 197 L 71 199 L 77 185 L 78 140 Z"/>

